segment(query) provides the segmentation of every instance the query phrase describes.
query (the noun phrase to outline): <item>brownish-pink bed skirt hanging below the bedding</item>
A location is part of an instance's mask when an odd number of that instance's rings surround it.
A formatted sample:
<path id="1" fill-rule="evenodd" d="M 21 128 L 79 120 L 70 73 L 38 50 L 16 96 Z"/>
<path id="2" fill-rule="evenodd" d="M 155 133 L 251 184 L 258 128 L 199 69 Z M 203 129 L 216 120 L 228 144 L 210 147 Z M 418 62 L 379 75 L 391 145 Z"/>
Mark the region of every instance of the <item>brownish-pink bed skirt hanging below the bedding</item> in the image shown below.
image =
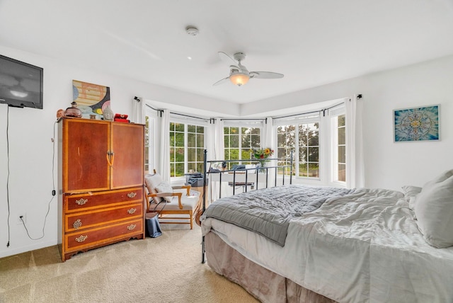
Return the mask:
<path id="1" fill-rule="evenodd" d="M 261 302 L 335 302 L 253 263 L 213 232 L 209 232 L 205 236 L 205 245 L 207 263 L 210 268 L 219 275 L 241 285 Z"/>

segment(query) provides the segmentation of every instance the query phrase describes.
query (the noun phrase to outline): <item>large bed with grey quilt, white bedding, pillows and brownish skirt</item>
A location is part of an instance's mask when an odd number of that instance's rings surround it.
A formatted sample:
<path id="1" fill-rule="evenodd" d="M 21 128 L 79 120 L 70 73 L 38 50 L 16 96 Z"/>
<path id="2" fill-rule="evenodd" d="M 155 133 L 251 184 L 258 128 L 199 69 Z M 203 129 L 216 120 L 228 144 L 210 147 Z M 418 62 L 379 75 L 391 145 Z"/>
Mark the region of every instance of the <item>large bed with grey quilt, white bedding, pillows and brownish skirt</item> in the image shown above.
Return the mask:
<path id="1" fill-rule="evenodd" d="M 262 302 L 453 302 L 453 170 L 401 191 L 260 188 L 201 227 L 208 265 Z"/>

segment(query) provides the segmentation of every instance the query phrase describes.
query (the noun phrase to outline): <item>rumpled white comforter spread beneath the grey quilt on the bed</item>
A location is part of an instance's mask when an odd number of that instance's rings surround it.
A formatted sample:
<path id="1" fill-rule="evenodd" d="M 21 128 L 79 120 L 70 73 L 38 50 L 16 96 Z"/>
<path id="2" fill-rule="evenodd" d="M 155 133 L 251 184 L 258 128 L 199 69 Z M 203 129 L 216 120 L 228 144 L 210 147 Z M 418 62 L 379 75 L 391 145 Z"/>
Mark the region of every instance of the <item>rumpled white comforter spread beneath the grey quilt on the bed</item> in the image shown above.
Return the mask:
<path id="1" fill-rule="evenodd" d="M 394 190 L 358 189 L 325 202 L 291 221 L 284 247 L 208 218 L 202 233 L 210 230 L 251 261 L 338 302 L 453 302 L 453 248 L 429 246 Z"/>

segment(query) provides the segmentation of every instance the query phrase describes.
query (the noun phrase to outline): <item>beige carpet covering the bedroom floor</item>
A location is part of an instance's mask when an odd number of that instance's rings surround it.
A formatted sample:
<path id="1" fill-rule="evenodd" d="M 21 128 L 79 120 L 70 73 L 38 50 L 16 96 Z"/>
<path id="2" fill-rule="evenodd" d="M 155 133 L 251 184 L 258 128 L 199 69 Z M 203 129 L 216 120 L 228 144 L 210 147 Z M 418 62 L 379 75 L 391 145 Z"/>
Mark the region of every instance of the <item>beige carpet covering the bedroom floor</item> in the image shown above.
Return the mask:
<path id="1" fill-rule="evenodd" d="M 162 224 L 65 263 L 57 246 L 0 258 L 0 302 L 258 302 L 201 263 L 201 231 Z"/>

